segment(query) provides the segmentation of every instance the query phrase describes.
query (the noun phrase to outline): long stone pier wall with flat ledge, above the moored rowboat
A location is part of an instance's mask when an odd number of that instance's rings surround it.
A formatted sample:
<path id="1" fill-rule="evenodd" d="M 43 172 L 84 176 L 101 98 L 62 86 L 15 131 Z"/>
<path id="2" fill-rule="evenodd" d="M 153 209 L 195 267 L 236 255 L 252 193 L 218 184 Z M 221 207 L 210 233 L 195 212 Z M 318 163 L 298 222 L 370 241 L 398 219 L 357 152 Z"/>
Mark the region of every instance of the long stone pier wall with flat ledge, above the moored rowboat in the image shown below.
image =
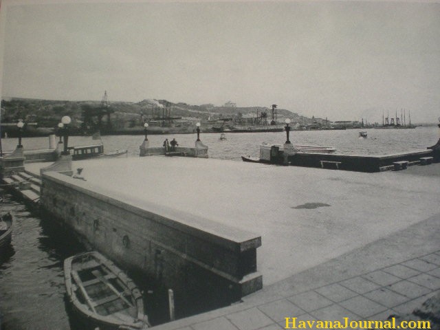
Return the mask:
<path id="1" fill-rule="evenodd" d="M 203 298 L 231 302 L 262 287 L 260 236 L 147 201 L 135 206 L 59 173 L 42 179 L 41 203 L 54 219 L 115 263 L 162 281 L 177 297 L 203 291 Z"/>

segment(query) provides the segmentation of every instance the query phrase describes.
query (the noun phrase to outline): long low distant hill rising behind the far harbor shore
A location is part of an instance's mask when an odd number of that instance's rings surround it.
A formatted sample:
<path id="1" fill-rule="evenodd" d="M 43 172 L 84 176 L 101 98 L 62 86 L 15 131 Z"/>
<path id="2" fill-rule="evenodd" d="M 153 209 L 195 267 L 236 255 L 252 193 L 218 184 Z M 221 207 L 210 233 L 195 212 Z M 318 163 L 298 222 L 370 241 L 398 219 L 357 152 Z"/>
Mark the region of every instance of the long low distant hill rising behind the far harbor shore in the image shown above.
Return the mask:
<path id="1" fill-rule="evenodd" d="M 31 98 L 8 98 L 1 100 L 1 121 L 36 122 L 39 127 L 56 127 L 63 115 L 72 118 L 72 125 L 80 128 L 88 126 L 105 126 L 113 128 L 140 124 L 143 119 L 181 118 L 188 120 L 215 120 L 221 118 L 240 118 L 243 115 L 267 113 L 271 118 L 269 107 L 214 107 L 212 104 L 192 105 L 184 102 L 168 100 L 145 99 L 140 102 L 110 101 L 103 104 L 100 101 L 68 101 L 68 100 L 39 100 Z M 287 109 L 276 109 L 278 120 L 290 118 L 299 124 L 311 124 L 315 118 L 307 118 Z"/>

